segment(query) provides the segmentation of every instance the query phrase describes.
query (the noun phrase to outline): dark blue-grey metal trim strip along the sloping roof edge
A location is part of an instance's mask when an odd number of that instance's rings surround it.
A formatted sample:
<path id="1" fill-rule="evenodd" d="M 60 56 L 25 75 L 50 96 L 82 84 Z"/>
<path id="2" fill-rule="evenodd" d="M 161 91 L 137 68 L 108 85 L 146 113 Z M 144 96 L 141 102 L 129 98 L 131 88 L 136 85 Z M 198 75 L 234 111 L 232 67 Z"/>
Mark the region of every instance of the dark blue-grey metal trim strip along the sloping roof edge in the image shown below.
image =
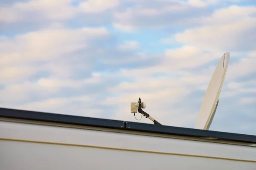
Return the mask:
<path id="1" fill-rule="evenodd" d="M 99 119 L 82 116 L 63 115 L 55 113 L 43 113 L 35 111 L 24 111 L 9 108 L 0 108 L 0 117 L 13 119 L 36 120 L 43 122 L 56 122 L 72 125 L 84 125 L 93 127 L 107 127 L 113 129 L 133 130 L 149 133 L 161 133 L 178 136 L 192 136 L 199 138 L 215 138 L 234 142 L 256 143 L 256 136 L 237 133 L 217 132 L 211 130 L 199 130 L 184 127 L 172 127 L 164 125 L 152 125 L 136 122 L 124 122 L 111 119 Z"/>

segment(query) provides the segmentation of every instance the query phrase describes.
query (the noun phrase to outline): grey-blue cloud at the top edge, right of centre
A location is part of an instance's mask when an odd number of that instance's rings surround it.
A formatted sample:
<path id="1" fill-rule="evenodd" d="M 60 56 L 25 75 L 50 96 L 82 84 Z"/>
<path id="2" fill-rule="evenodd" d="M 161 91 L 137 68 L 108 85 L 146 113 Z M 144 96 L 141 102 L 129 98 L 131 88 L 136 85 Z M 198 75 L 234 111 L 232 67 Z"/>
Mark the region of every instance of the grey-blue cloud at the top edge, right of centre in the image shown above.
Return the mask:
<path id="1" fill-rule="evenodd" d="M 129 7 L 114 11 L 115 28 L 122 31 L 136 31 L 140 28 L 159 30 L 169 26 L 182 28 L 191 24 L 193 18 L 209 13 L 206 8 L 180 0 L 141 0 L 139 3 L 130 3 Z"/>

